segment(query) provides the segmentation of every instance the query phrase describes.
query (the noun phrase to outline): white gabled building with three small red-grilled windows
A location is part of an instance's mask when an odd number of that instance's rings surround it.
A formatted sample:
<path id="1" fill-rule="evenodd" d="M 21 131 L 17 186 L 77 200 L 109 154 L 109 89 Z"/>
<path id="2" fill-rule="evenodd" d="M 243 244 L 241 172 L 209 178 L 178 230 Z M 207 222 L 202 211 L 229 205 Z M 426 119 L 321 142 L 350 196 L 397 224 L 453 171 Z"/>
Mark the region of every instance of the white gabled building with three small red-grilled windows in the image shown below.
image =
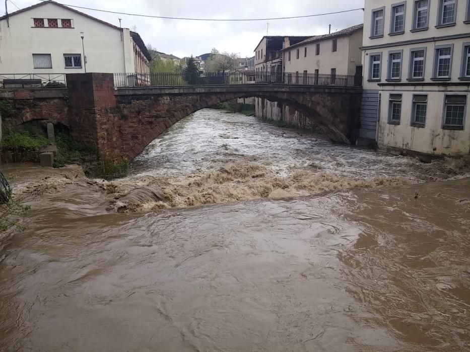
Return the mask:
<path id="1" fill-rule="evenodd" d="M 138 33 L 51 0 L 0 17 L 0 74 L 145 73 L 149 60 Z"/>

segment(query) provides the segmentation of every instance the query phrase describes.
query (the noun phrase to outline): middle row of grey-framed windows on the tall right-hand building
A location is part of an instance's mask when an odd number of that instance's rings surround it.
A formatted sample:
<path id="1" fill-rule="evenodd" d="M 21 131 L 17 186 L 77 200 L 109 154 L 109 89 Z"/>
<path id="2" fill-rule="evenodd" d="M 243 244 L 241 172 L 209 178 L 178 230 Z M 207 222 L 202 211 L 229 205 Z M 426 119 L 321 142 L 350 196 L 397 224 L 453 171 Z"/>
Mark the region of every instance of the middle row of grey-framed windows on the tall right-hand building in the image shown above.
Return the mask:
<path id="1" fill-rule="evenodd" d="M 417 81 L 425 79 L 426 47 L 412 48 L 409 55 L 409 68 L 407 80 Z M 450 80 L 452 78 L 452 60 L 454 45 L 445 44 L 434 47 L 433 70 L 431 80 Z M 403 50 L 388 51 L 387 81 L 402 79 Z M 460 74 L 458 79 L 470 80 L 470 42 L 463 43 Z M 369 81 L 380 81 L 382 71 L 382 53 L 369 54 Z"/>

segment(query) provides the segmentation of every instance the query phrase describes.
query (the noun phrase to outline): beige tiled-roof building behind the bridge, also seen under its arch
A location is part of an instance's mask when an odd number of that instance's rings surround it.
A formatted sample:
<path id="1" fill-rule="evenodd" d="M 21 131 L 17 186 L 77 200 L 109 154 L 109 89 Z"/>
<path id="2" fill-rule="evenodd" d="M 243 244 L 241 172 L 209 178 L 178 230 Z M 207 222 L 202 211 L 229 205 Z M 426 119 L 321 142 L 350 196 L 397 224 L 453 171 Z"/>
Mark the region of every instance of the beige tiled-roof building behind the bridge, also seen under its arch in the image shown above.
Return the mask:
<path id="1" fill-rule="evenodd" d="M 286 36 L 273 37 L 271 40 L 270 37 L 263 37 L 256 48 L 256 53 L 259 52 L 258 57 L 260 57 L 261 52 L 266 52 L 265 48 L 268 48 L 267 57 L 264 57 L 262 61 L 256 61 L 257 72 L 270 72 L 270 77 L 273 77 L 271 80 L 279 79 L 282 82 L 282 79 L 293 79 L 292 83 L 299 84 L 302 83 L 296 78 L 296 74 L 299 73 L 326 74 L 328 77 L 333 74 L 337 81 L 342 78 L 337 75 L 355 75 L 356 73 L 361 75 L 362 32 L 363 25 L 361 24 L 335 33 L 313 37 Z M 269 50 L 270 42 L 274 50 Z M 283 78 L 279 74 L 282 72 L 291 74 Z M 321 132 L 313 119 L 289 106 L 267 99 L 255 99 L 255 116 L 264 120 L 281 120 L 294 126 Z"/>

